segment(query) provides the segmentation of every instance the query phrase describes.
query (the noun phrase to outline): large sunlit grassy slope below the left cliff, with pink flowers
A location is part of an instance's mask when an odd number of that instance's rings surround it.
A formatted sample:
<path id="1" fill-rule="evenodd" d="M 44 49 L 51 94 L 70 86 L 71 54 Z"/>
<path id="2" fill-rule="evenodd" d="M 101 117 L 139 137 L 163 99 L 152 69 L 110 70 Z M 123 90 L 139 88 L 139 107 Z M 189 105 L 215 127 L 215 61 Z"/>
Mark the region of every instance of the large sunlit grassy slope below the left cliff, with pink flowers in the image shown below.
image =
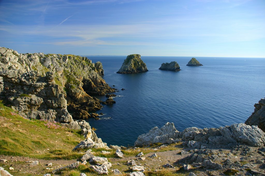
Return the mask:
<path id="1" fill-rule="evenodd" d="M 0 116 L 0 155 L 39 159 L 76 159 L 82 156 L 82 153 L 72 152 L 84 139 L 78 130 L 69 130 L 59 123 L 25 119 L 2 101 Z M 56 128 L 48 128 L 48 124 L 55 124 Z"/>

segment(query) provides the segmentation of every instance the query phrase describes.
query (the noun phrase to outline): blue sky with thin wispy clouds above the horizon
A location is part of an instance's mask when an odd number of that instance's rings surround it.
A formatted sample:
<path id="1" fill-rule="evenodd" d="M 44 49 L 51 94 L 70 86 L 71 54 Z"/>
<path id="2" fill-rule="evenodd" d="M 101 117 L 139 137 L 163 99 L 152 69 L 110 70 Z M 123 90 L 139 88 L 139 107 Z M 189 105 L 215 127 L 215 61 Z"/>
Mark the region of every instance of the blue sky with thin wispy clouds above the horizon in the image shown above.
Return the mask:
<path id="1" fill-rule="evenodd" d="M 264 0 L 0 0 L 19 53 L 265 57 Z"/>

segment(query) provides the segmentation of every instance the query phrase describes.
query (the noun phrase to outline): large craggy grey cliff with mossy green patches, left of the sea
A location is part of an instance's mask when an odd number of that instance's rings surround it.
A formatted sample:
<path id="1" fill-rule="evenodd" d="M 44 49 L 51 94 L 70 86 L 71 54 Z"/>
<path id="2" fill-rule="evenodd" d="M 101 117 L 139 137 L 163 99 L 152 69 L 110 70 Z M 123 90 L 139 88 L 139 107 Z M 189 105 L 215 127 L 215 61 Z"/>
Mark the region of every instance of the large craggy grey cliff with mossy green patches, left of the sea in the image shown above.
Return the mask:
<path id="1" fill-rule="evenodd" d="M 84 119 L 90 117 L 87 111 L 102 107 L 90 95 L 114 92 L 100 77 L 102 64 L 86 57 L 19 54 L 4 47 L 0 54 L 0 96 L 22 116 L 70 123 L 69 112 L 81 112 L 73 117 Z"/>

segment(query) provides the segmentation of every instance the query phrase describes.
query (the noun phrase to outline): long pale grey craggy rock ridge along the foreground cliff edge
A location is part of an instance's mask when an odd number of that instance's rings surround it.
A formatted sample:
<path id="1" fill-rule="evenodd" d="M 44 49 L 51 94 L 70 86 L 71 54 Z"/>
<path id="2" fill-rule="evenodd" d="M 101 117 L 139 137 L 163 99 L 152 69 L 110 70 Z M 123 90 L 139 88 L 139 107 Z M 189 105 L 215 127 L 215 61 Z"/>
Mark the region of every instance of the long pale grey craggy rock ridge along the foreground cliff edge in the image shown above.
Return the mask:
<path id="1" fill-rule="evenodd" d="M 179 132 L 173 123 L 167 122 L 161 129 L 154 127 L 147 134 L 142 134 L 135 141 L 135 146 L 147 146 L 153 143 L 169 143 L 173 140 L 187 141 L 192 148 L 203 148 L 205 145 L 231 145 L 241 143 L 253 147 L 265 144 L 265 133 L 257 126 L 244 123 L 217 128 L 186 128 Z"/>

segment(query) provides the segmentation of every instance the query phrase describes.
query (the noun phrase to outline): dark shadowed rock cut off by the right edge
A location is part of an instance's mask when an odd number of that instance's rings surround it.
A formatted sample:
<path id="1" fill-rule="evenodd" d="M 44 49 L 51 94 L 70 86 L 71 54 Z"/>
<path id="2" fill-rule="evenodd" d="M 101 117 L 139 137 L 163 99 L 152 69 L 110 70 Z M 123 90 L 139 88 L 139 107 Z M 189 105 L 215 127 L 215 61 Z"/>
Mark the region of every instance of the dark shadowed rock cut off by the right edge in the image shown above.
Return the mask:
<path id="1" fill-rule="evenodd" d="M 246 120 L 246 125 L 257 125 L 265 132 L 265 99 L 260 99 L 259 103 L 254 105 L 255 109 L 251 116 Z"/>

